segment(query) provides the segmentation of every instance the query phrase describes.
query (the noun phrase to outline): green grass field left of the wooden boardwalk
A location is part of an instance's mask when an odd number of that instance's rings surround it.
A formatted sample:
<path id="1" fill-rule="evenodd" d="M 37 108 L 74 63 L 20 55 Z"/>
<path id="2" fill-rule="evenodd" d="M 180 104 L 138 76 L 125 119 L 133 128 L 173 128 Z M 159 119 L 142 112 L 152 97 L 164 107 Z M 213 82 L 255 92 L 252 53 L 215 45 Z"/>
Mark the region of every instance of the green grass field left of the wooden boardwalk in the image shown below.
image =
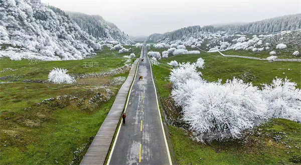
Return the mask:
<path id="1" fill-rule="evenodd" d="M 131 47 L 139 55 L 140 49 Z M 0 58 L 0 71 L 13 69 L 0 72 L 0 82 L 9 82 L 0 83 L 1 164 L 79 164 L 121 86 L 112 79 L 127 77 L 129 71 L 76 79 L 73 84 L 35 80 L 47 80 L 53 67 L 67 68 L 71 75 L 106 72 L 124 66 L 123 55 L 131 52 L 103 47 L 83 60 Z M 98 62 L 98 67 L 85 67 L 84 62 Z M 23 82 L 27 79 L 33 82 Z"/>

